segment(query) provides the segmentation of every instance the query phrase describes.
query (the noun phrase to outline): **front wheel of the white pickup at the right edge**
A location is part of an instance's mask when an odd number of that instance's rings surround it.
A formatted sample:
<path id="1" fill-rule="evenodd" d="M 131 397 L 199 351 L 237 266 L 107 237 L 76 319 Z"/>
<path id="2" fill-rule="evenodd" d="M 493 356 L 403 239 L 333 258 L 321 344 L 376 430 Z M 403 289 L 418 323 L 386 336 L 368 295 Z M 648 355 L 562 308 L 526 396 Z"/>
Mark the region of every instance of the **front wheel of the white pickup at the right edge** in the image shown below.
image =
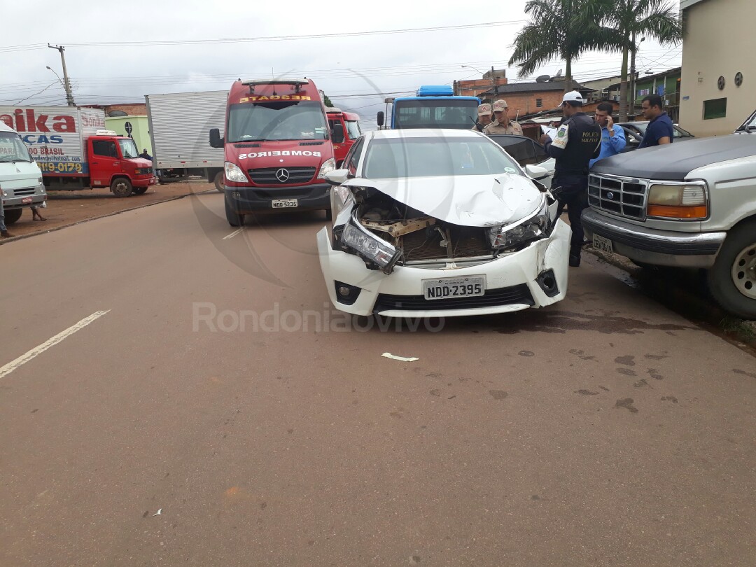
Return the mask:
<path id="1" fill-rule="evenodd" d="M 727 235 L 708 271 L 711 295 L 730 313 L 756 319 L 756 219 Z"/>

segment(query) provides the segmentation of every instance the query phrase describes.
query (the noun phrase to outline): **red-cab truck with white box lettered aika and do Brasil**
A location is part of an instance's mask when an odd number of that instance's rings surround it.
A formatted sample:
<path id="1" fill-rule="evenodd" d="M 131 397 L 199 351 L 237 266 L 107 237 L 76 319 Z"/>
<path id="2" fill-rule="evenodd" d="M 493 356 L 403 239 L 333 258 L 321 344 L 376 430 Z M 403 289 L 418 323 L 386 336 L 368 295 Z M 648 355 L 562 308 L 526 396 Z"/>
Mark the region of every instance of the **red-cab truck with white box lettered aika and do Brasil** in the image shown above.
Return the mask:
<path id="1" fill-rule="evenodd" d="M 104 110 L 0 106 L 0 121 L 26 143 L 48 189 L 110 187 L 129 197 L 155 184 L 152 162 L 139 157 L 132 138 L 105 130 Z"/>

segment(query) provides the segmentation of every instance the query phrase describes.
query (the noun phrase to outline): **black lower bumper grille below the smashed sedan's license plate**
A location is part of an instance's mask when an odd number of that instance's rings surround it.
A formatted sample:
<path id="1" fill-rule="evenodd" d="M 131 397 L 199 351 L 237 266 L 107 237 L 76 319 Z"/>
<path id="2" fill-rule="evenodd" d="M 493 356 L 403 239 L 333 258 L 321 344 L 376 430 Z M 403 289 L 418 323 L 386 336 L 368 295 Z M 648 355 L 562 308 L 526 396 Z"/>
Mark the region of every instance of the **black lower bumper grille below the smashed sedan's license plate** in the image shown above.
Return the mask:
<path id="1" fill-rule="evenodd" d="M 519 286 L 485 290 L 484 296 L 453 297 L 450 299 L 425 299 L 423 296 L 390 296 L 381 293 L 373 307 L 373 313 L 382 311 L 443 311 L 445 309 L 475 309 L 500 305 L 535 305 L 533 296 L 525 283 Z"/>

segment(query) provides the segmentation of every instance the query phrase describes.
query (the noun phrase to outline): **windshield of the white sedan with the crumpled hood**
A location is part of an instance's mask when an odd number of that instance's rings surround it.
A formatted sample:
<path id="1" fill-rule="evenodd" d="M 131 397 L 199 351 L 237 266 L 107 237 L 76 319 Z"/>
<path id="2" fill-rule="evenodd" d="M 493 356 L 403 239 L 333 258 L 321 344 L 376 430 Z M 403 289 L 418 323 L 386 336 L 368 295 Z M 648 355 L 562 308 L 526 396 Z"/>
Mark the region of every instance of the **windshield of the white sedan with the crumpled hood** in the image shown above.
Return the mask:
<path id="1" fill-rule="evenodd" d="M 373 140 L 364 158 L 364 177 L 522 175 L 517 163 L 488 138 L 386 138 Z"/>

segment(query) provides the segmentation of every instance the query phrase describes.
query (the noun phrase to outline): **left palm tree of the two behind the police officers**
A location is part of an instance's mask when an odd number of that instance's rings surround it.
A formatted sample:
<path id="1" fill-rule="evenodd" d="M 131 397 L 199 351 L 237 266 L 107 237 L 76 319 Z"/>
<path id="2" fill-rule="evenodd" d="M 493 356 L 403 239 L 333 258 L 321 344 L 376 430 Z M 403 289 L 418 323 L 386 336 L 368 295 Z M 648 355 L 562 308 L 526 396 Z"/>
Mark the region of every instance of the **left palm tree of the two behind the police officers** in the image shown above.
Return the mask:
<path id="1" fill-rule="evenodd" d="M 554 57 L 565 60 L 565 92 L 572 91 L 572 61 L 584 51 L 606 48 L 612 30 L 601 25 L 613 0 L 529 0 L 528 23 L 517 34 L 509 64 L 518 64 L 520 77 L 531 75 Z"/>

